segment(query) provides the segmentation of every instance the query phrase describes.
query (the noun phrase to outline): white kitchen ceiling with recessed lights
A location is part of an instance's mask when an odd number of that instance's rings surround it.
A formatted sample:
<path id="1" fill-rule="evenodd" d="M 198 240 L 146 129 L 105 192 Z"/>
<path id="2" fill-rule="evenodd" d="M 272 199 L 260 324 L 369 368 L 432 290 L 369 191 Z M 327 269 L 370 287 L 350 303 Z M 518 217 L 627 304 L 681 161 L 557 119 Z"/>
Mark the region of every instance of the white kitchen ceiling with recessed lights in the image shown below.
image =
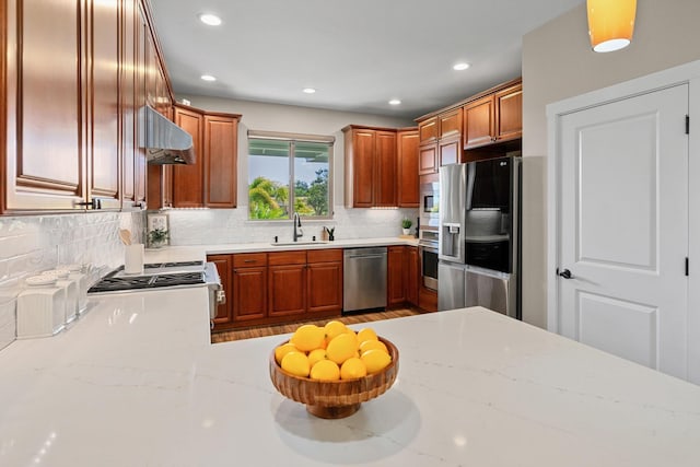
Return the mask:
<path id="1" fill-rule="evenodd" d="M 582 2 L 151 0 L 177 95 L 410 119 L 521 75 L 522 36 Z"/>

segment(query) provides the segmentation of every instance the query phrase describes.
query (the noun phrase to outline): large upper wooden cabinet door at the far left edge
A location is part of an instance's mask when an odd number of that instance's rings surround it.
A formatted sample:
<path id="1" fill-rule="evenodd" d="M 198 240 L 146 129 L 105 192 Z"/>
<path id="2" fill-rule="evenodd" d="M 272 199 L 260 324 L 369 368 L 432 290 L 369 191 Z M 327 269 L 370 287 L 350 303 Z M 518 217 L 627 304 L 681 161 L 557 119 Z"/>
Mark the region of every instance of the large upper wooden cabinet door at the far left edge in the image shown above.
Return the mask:
<path id="1" fill-rule="evenodd" d="M 82 0 L 0 7 L 5 36 L 2 210 L 82 209 Z M 7 17 L 5 17 L 7 16 Z M 20 83 L 21 78 L 21 83 Z"/>

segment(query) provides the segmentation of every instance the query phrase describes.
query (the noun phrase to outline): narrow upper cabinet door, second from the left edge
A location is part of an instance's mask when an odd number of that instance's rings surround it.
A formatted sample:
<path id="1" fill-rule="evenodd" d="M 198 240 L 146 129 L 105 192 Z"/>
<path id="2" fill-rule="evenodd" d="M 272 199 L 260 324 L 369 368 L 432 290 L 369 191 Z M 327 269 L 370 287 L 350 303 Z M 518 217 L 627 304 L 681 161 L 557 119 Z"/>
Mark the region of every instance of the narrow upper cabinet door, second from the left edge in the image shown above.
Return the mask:
<path id="1" fill-rule="evenodd" d="M 119 9 L 118 2 L 89 2 L 90 48 L 89 198 L 120 207 Z"/>

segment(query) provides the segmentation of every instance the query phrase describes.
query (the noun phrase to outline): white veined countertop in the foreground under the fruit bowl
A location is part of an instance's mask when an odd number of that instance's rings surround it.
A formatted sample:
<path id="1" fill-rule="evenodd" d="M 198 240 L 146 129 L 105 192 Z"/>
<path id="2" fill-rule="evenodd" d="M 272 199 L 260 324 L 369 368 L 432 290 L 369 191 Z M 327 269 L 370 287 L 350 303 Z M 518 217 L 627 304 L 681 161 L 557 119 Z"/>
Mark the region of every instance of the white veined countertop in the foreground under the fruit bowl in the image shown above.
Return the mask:
<path id="1" fill-rule="evenodd" d="M 289 336 L 212 346 L 206 303 L 102 296 L 2 350 L 0 465 L 700 465 L 700 387 L 485 308 L 372 323 L 396 383 L 322 420 L 270 382 Z"/>

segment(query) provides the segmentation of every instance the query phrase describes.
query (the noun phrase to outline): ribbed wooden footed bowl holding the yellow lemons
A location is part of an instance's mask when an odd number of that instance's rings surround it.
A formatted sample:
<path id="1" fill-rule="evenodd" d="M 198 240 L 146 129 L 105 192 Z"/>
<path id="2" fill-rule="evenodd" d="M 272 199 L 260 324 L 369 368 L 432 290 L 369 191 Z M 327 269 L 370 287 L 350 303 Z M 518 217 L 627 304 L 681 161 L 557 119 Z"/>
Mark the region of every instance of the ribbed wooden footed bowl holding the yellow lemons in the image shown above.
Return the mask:
<path id="1" fill-rule="evenodd" d="M 270 354 L 270 380 L 284 397 L 306 405 L 306 410 L 324 419 L 341 419 L 360 409 L 360 404 L 384 394 L 398 374 L 398 349 L 386 345 L 392 363 L 378 373 L 354 380 L 317 381 L 295 376 L 277 364 L 275 350 Z"/>

